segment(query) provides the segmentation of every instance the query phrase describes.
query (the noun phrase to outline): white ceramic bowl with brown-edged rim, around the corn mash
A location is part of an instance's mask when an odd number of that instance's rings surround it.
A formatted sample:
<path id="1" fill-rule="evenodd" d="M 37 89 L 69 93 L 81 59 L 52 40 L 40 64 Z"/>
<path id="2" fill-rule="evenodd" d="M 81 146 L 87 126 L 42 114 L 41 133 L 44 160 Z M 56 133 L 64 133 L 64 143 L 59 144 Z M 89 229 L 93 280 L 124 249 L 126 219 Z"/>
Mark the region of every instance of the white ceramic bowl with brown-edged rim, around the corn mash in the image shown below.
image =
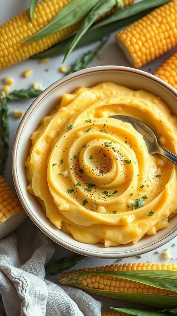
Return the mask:
<path id="1" fill-rule="evenodd" d="M 128 258 L 152 251 L 163 246 L 177 236 L 177 216 L 169 220 L 168 228 L 159 230 L 155 235 L 146 235 L 137 244 L 120 245 L 106 248 L 103 245 L 89 245 L 73 240 L 71 236 L 57 229 L 38 204 L 37 199 L 26 189 L 25 161 L 29 153 L 30 137 L 43 116 L 54 108 L 56 100 L 64 93 L 72 93 L 81 86 L 112 81 L 132 89 L 145 89 L 160 96 L 171 111 L 177 115 L 177 92 L 167 83 L 142 70 L 119 66 L 100 66 L 88 68 L 65 76 L 43 91 L 26 111 L 17 130 L 13 153 L 12 170 L 18 197 L 28 216 L 36 226 L 59 245 L 86 255 L 100 258 Z"/>

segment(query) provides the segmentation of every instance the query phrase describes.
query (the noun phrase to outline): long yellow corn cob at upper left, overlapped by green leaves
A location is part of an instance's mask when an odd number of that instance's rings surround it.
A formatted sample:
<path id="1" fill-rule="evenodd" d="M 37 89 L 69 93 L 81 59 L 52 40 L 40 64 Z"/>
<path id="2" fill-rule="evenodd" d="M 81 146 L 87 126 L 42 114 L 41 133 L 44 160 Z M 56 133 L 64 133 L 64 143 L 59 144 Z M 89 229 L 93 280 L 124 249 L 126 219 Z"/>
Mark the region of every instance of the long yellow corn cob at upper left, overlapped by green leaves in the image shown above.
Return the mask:
<path id="1" fill-rule="evenodd" d="M 29 9 L 13 17 L 0 27 L 0 70 L 29 58 L 39 52 L 43 52 L 55 45 L 68 35 L 74 33 L 81 22 L 77 22 L 50 36 L 31 43 L 22 43 L 23 40 L 36 34 L 40 29 L 71 0 L 42 0 L 37 3 L 33 22 L 30 20 Z M 135 0 L 124 0 L 125 5 Z M 112 14 L 115 9 L 111 10 Z M 101 19 L 106 15 L 101 16 Z"/>

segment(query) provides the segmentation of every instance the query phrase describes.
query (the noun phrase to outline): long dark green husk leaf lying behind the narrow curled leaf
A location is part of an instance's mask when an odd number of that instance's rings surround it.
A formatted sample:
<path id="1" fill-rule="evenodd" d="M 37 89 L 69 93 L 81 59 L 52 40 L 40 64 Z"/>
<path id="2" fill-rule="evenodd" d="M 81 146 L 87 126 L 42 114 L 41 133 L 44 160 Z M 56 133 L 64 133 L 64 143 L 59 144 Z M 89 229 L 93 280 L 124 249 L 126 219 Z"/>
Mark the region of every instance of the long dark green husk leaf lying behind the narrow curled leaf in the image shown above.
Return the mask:
<path id="1" fill-rule="evenodd" d="M 155 9 L 159 5 L 163 5 L 168 2 L 169 1 L 167 0 L 143 0 L 142 3 L 134 3 L 130 7 L 119 10 L 116 14 L 111 15 L 105 20 L 100 21 L 94 26 L 90 27 L 89 30 L 77 43 L 75 48 L 80 48 L 89 45 L 97 40 L 100 40 L 103 38 L 103 36 L 107 36 L 122 27 L 126 27 L 127 25 L 139 20 L 143 16 L 150 13 L 152 9 Z M 113 21 L 114 19 L 115 21 Z M 70 38 L 63 40 L 62 42 L 46 50 L 45 52 L 36 54 L 31 58 L 36 59 L 64 55 L 69 43 L 73 40 L 73 38 L 74 36 L 71 36 Z"/>

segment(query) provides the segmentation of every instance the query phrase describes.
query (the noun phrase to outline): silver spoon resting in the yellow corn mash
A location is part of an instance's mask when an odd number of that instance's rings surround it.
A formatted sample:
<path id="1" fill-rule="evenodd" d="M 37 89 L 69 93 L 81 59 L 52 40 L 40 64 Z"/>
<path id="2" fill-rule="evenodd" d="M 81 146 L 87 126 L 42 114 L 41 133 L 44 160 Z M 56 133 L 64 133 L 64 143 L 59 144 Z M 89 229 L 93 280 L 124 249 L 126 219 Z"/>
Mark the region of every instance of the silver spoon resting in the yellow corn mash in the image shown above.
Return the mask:
<path id="1" fill-rule="evenodd" d="M 151 128 L 147 126 L 145 123 L 143 123 L 139 119 L 135 119 L 127 115 L 112 115 L 110 117 L 114 119 L 120 119 L 123 122 L 128 122 L 131 125 L 133 125 L 133 127 L 140 134 L 143 135 L 148 152 L 150 154 L 160 154 L 163 157 L 170 160 L 171 162 L 173 162 L 175 165 L 177 165 L 177 156 L 159 145 L 156 135 L 151 130 Z"/>

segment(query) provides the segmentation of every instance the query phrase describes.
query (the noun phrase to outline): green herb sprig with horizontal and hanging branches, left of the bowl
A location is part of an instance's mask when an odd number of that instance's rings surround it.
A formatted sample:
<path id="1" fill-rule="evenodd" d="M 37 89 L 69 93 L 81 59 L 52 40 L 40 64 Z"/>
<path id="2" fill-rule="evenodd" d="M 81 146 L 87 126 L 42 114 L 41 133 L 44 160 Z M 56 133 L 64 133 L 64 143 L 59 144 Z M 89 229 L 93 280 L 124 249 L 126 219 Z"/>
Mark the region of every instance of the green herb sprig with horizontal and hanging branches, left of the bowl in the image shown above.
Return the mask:
<path id="1" fill-rule="evenodd" d="M 20 89 L 5 94 L 4 91 L 0 91 L 0 175 L 3 175 L 9 150 L 9 110 L 7 99 L 36 98 L 41 92 L 41 90 Z"/>

